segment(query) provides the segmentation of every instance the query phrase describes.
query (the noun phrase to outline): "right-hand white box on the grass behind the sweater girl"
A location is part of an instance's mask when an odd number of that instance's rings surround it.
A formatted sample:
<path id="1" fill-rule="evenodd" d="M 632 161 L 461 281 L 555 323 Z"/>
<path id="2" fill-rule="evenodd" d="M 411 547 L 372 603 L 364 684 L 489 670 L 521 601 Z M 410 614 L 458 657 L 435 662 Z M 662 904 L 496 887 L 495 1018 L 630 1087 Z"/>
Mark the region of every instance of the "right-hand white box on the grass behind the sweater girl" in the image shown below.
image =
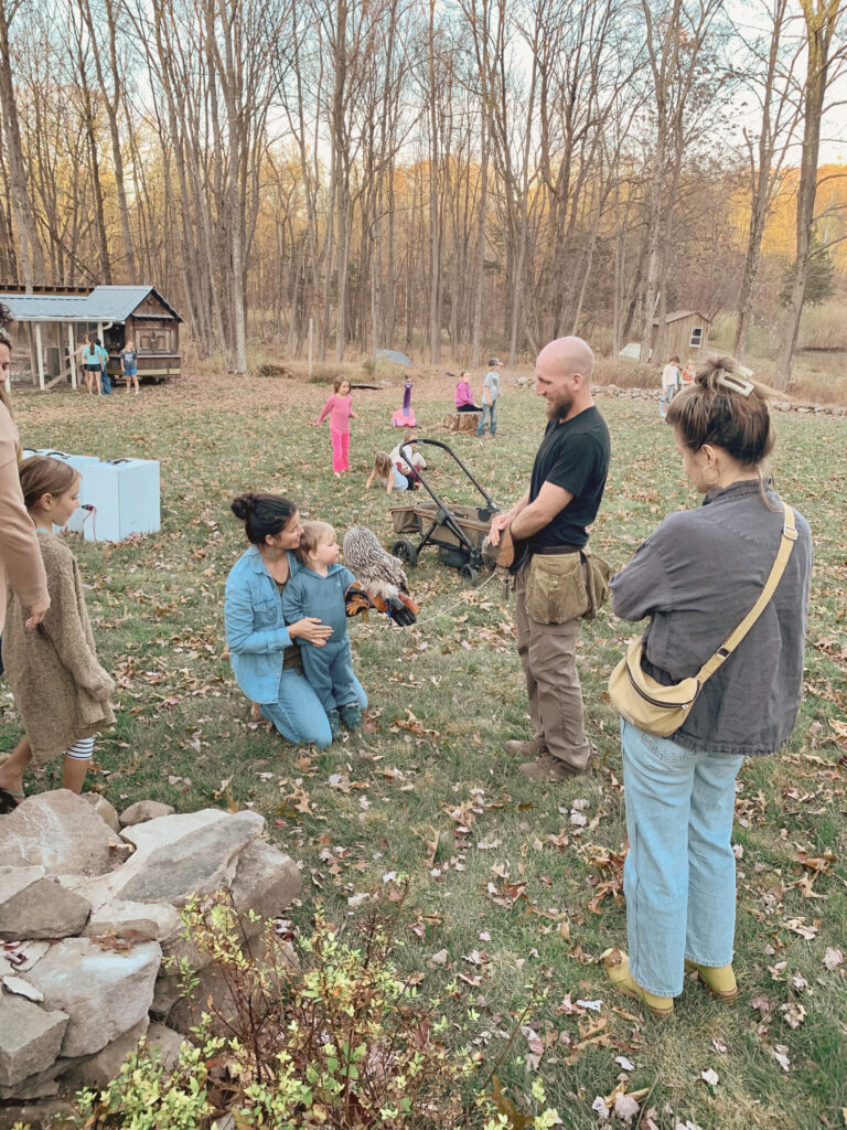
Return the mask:
<path id="1" fill-rule="evenodd" d="M 95 507 L 82 528 L 86 541 L 123 541 L 132 533 L 156 533 L 160 529 L 156 460 L 105 459 L 80 470 L 85 476 L 85 501 Z"/>

